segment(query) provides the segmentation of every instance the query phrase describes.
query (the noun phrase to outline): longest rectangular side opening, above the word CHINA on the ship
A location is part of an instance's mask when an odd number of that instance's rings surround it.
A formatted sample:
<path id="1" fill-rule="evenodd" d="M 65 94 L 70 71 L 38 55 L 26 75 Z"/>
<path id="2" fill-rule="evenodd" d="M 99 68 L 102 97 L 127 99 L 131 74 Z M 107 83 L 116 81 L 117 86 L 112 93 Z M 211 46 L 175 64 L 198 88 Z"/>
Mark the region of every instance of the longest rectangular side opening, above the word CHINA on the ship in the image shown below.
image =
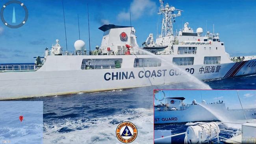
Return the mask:
<path id="1" fill-rule="evenodd" d="M 121 68 L 122 59 L 83 59 L 81 69 Z"/>

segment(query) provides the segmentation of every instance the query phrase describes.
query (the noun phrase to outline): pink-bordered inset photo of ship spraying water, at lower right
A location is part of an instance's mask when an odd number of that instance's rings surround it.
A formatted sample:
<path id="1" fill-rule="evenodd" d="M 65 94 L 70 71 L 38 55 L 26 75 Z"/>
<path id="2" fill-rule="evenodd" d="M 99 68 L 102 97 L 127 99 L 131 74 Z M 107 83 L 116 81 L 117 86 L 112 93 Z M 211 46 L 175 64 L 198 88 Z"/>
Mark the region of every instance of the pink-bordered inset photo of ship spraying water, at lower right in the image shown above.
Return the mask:
<path id="1" fill-rule="evenodd" d="M 256 144 L 256 90 L 154 90 L 154 144 Z"/>

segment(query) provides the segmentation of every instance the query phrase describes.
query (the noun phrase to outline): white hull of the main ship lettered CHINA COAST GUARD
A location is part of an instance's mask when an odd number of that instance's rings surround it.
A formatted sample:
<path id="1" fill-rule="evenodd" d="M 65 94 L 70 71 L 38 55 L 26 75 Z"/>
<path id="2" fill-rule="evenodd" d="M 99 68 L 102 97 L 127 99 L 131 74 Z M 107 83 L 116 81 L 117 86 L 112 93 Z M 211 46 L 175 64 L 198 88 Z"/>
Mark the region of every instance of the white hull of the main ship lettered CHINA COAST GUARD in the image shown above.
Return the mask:
<path id="1" fill-rule="evenodd" d="M 200 80 L 256 73 L 256 59 L 212 65 L 132 67 L 90 70 L 37 70 L 0 73 L 0 99 L 52 96 L 77 92 L 188 83 L 185 70 Z M 43 67 L 42 67 L 43 69 Z"/>

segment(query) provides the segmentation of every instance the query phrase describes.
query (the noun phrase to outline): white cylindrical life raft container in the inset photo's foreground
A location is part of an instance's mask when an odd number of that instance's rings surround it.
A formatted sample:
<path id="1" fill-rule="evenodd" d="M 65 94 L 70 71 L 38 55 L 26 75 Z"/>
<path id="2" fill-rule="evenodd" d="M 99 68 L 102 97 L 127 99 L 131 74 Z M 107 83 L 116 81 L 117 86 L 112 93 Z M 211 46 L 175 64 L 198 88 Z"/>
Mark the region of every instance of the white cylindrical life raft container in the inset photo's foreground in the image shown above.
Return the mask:
<path id="1" fill-rule="evenodd" d="M 217 138 L 219 133 L 219 126 L 216 122 L 189 126 L 187 127 L 187 141 L 189 144 L 204 143 L 213 138 Z"/>

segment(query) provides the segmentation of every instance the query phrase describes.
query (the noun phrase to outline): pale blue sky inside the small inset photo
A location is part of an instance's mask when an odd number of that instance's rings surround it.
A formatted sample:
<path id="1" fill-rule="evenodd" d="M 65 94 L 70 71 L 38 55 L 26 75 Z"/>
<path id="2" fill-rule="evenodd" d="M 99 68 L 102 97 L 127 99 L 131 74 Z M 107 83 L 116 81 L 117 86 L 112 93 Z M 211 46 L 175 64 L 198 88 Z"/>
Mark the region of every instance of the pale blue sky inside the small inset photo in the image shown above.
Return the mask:
<path id="1" fill-rule="evenodd" d="M 191 104 L 193 100 L 201 103 L 223 101 L 229 109 L 241 109 L 241 105 L 237 96 L 237 90 L 163 90 L 165 97 L 184 97 L 183 102 Z M 256 108 L 256 90 L 238 90 L 239 98 L 243 108 Z M 156 98 L 162 98 L 162 92 L 156 94 Z M 202 97 L 201 97 L 202 96 Z M 157 101 L 154 101 L 158 104 Z"/>

